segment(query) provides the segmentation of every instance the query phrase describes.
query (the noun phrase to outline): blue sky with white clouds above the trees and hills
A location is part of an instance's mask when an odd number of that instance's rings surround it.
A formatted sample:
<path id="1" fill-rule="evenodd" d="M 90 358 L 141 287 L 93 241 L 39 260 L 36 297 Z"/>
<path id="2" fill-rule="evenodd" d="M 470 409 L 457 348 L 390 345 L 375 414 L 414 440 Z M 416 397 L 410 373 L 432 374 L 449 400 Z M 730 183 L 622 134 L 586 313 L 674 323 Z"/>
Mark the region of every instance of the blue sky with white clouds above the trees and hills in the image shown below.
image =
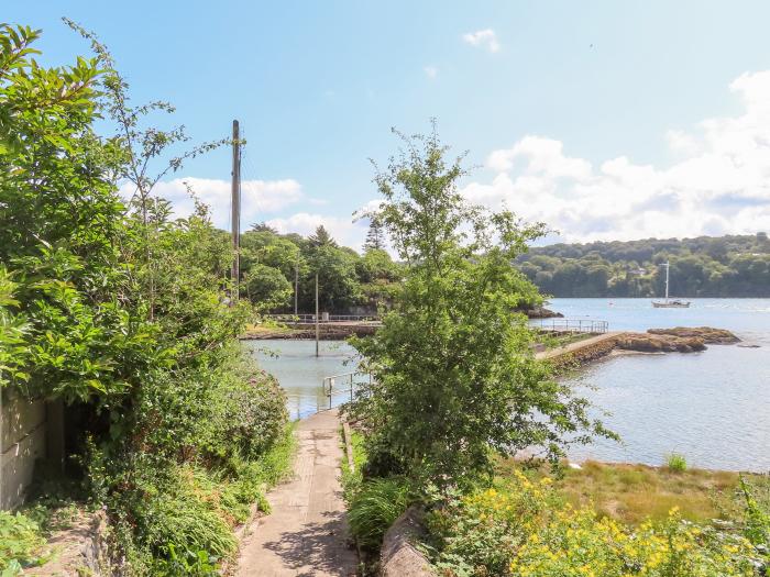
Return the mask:
<path id="1" fill-rule="evenodd" d="M 395 126 L 469 152 L 469 201 L 551 229 L 546 242 L 770 231 L 770 2 L 0 0 L 43 30 L 45 64 L 110 46 L 134 102 L 167 100 L 194 142 L 246 138 L 242 229 L 324 224 L 360 247 Z M 185 182 L 227 229 L 230 152 Z"/>

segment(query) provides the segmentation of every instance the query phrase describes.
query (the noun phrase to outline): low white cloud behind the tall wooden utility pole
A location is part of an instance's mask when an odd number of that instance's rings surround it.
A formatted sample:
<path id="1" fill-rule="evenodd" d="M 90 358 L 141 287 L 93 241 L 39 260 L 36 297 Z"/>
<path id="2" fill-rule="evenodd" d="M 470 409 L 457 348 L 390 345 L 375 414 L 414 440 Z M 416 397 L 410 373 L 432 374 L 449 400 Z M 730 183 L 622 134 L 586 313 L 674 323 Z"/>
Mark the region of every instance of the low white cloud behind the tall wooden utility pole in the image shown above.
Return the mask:
<path id="1" fill-rule="evenodd" d="M 222 229 L 230 229 L 230 198 L 231 189 L 229 180 L 213 178 L 175 178 L 158 182 L 154 195 L 169 200 L 174 206 L 176 217 L 189 215 L 195 203 L 187 192 L 185 182 L 190 186 L 196 196 L 211 207 L 213 223 Z M 129 197 L 133 189 L 129 185 L 121 187 L 124 197 Z M 302 188 L 296 180 L 243 180 L 241 182 L 241 226 L 245 230 L 249 225 L 267 220 L 267 215 L 275 214 L 292 204 L 304 199 Z"/>

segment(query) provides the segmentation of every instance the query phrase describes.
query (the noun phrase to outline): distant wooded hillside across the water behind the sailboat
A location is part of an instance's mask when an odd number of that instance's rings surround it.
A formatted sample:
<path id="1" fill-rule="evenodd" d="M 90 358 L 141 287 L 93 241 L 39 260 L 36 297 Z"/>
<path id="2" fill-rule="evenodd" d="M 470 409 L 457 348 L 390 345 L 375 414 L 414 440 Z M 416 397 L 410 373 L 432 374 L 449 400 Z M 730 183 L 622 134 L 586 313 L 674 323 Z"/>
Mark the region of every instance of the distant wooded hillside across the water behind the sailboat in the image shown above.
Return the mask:
<path id="1" fill-rule="evenodd" d="M 517 266 L 554 297 L 770 297 L 770 241 L 756 235 L 532 247 Z"/>

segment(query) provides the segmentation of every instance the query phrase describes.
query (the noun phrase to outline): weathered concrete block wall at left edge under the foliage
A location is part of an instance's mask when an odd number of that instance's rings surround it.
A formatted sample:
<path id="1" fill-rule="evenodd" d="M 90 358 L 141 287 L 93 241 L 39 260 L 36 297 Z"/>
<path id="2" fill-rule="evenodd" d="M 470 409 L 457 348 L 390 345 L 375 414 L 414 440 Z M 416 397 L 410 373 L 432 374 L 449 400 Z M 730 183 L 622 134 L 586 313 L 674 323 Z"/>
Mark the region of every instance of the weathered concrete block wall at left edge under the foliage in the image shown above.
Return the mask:
<path id="1" fill-rule="evenodd" d="M 46 404 L 0 392 L 0 509 L 24 500 L 35 461 L 46 456 Z"/>

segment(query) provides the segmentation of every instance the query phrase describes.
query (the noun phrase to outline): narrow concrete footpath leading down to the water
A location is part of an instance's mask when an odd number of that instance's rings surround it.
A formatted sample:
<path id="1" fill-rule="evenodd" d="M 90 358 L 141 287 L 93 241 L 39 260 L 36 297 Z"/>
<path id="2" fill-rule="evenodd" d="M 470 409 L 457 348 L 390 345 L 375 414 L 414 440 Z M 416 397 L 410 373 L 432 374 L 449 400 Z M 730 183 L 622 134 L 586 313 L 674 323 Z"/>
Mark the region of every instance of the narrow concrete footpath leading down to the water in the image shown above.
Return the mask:
<path id="1" fill-rule="evenodd" d="M 251 528 L 235 575 L 350 577 L 358 558 L 348 544 L 340 487 L 340 421 L 324 411 L 299 423 L 294 478 L 267 495 L 273 512 Z"/>

